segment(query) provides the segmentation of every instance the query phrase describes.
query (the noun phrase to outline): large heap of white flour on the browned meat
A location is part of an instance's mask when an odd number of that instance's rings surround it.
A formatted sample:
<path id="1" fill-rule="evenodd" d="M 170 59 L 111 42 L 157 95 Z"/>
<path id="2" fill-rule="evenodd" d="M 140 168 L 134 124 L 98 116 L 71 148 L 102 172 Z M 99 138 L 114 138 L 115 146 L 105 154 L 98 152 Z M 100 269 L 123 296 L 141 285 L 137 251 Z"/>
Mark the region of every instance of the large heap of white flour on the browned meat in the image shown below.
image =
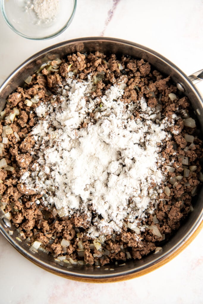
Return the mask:
<path id="1" fill-rule="evenodd" d="M 33 128 L 36 144 L 33 156 L 39 157 L 21 181 L 44 195 L 44 204 L 55 204 L 59 214 L 85 213 L 92 219 L 90 237 L 119 232 L 124 219 L 133 223 L 152 212 L 160 184 L 165 180 L 158 143 L 169 139 L 155 110 L 144 99 L 139 102 L 140 119 L 132 119 L 135 105 L 120 100 L 125 84 L 108 89 L 99 105 L 90 96 L 93 83 L 68 78 L 61 104 L 40 104 L 41 119 Z M 94 109 L 94 119 L 89 116 Z M 157 118 L 159 115 L 157 115 Z M 43 120 L 44 119 L 44 120 Z M 92 119 L 92 122 L 91 122 Z M 79 129 L 85 123 L 86 127 Z M 79 129 L 79 130 L 78 130 Z M 154 182 L 156 188 L 149 190 Z M 99 216 L 100 215 L 100 216 Z M 135 217 L 137 220 L 135 220 Z"/>

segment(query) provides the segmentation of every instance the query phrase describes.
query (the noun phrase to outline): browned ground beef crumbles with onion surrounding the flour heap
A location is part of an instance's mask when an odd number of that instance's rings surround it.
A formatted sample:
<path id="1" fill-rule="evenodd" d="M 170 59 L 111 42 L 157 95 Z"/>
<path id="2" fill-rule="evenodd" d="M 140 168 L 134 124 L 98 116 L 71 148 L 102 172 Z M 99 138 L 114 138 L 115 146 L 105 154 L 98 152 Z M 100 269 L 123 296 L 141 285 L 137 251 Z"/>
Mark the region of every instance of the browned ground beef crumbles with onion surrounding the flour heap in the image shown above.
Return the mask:
<path id="1" fill-rule="evenodd" d="M 53 60 L 51 66 L 55 64 L 56 61 Z M 118 64 L 121 64 L 122 70 L 119 69 Z M 63 59 L 57 72 L 50 71 L 47 67 L 40 73 L 32 75 L 30 85 L 19 87 L 16 92 L 8 96 L 5 115 L 9 115 L 14 107 L 19 109 L 19 115 L 10 126 L 14 132 L 18 133 L 20 140 L 14 134 L 8 135 L 9 141 L 4 145 L 2 153 L 2 158 L 6 159 L 7 164 L 15 168 L 12 172 L 0 169 L 0 180 L 2 181 L 0 194 L 2 204 L 5 205 L 4 211 L 11 213 L 12 223 L 20 232 L 24 233 L 24 236 L 21 233 L 21 238 L 26 238 L 29 244 L 35 240 L 40 241 L 41 246 L 54 257 L 65 255 L 66 260 L 82 260 L 90 265 L 104 265 L 116 260 L 126 261 L 131 258 L 141 259 L 160 247 L 180 227 L 192 210 L 192 196 L 196 194 L 196 187 L 200 183 L 202 141 L 197 138 L 196 128 L 184 127 L 183 123 L 183 119 L 187 118 L 187 113 L 191 111 L 188 98 L 177 91 L 170 76 L 166 77 L 159 73 L 143 59 L 136 60 L 122 56 L 118 60 L 115 54 L 106 57 L 99 52 L 94 54 L 78 52 Z M 123 227 L 120 234 L 107 235 L 106 240 L 100 241 L 102 248 L 97 250 L 93 245 L 93 240 L 88 239 L 85 235 L 88 227 L 85 215 L 76 213 L 71 218 L 60 217 L 53 212 L 53 207 L 48 208 L 43 205 L 43 197 L 36 195 L 34 189 L 27 189 L 20 183 L 19 178 L 27 169 L 34 170 L 30 166 L 32 161 L 30 150 L 35 141 L 30 135 L 30 131 L 37 119 L 34 112 L 37 104 L 33 103 L 30 107 L 24 102 L 37 94 L 39 95 L 38 105 L 40 102 L 52 102 L 53 105 L 59 103 L 60 98 L 57 98 L 57 95 L 63 88 L 63 80 L 67 77 L 68 72 L 72 73 L 73 79 L 78 78 L 81 81 L 87 79 L 87 74 L 90 72 L 96 76 L 97 82 L 91 94 L 92 98 L 100 97 L 111 85 L 124 81 L 127 84 L 123 95 L 124 103 L 136 103 L 143 96 L 151 108 L 158 106 L 169 121 L 172 119 L 173 113 L 181 117 L 174 127 L 166 130 L 171 133 L 172 138 L 163 143 L 162 155 L 166 165 L 169 164 L 169 161 L 174 161 L 174 172 L 167 173 L 170 195 L 161 193 L 154 213 L 148 214 L 148 217 L 142 222 L 143 225 L 156 225 L 162 237 L 157 237 L 152 234 L 151 230 L 145 229 L 144 232 L 141 232 L 138 241 L 132 230 Z M 175 93 L 177 99 L 171 101 L 168 96 L 170 93 Z M 54 100 L 52 95 L 56 95 Z M 94 119 L 94 113 L 90 113 L 90 118 Z M 135 111 L 131 119 L 138 118 L 139 113 Z M 1 132 L 5 124 L 2 119 Z M 83 123 L 80 127 L 86 128 L 87 123 Z M 184 150 L 190 145 L 184 139 L 185 134 L 194 136 L 194 145 L 188 150 Z M 188 166 L 197 166 L 197 169 L 190 172 L 188 178 L 183 177 L 173 188 L 170 178 L 183 175 L 184 171 L 178 155 L 188 157 Z M 62 239 L 68 240 L 69 246 L 62 247 Z M 81 245 L 79 242 L 82 242 L 83 246 L 80 251 L 78 251 L 79 244 Z"/>

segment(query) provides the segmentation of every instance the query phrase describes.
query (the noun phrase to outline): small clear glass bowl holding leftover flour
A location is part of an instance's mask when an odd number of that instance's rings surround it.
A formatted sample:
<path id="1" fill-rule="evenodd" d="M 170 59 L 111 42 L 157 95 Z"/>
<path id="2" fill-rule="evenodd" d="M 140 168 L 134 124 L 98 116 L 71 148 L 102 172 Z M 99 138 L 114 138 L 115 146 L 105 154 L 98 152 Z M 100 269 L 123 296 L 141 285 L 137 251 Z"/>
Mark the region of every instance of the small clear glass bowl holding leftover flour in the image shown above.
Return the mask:
<path id="1" fill-rule="evenodd" d="M 32 0 L 0 2 L 2 15 L 8 26 L 20 36 L 32 40 L 50 39 L 61 34 L 71 23 L 77 4 L 77 0 L 59 0 L 56 15 L 49 19 L 40 19 Z"/>

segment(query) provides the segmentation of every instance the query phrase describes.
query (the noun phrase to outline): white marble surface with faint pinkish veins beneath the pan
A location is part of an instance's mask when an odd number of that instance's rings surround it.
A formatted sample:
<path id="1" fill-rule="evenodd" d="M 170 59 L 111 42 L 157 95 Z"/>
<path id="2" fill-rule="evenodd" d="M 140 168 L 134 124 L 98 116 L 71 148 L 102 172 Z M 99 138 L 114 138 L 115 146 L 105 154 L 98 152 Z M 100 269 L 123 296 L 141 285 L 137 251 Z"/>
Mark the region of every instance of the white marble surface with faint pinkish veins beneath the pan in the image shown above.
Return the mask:
<path id="1" fill-rule="evenodd" d="M 0 15 L 0 83 L 27 57 L 52 44 L 110 36 L 145 45 L 186 74 L 203 67 L 202 0 L 78 0 L 75 17 L 60 36 L 26 40 Z M 203 94 L 203 85 L 198 88 Z M 0 303 L 203 303 L 203 231 L 170 263 L 143 277 L 87 284 L 52 275 L 24 259 L 0 235 Z"/>

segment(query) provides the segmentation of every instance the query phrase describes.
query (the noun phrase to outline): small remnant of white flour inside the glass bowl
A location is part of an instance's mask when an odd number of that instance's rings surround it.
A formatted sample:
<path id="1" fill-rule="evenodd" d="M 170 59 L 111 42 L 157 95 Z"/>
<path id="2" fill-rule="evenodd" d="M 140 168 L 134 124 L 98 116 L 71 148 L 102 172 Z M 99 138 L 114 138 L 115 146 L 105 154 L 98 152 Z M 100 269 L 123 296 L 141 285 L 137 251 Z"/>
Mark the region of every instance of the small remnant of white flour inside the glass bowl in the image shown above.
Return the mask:
<path id="1" fill-rule="evenodd" d="M 33 10 L 39 22 L 51 22 L 59 10 L 59 0 L 27 0 L 26 11 Z"/>

